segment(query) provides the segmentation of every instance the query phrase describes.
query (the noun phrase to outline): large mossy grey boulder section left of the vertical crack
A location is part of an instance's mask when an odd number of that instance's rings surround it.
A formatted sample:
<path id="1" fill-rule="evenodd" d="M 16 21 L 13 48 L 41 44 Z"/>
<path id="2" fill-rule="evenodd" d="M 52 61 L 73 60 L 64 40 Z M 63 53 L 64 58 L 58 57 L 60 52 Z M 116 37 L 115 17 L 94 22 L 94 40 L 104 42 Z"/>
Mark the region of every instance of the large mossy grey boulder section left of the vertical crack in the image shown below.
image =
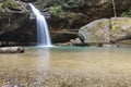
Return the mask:
<path id="1" fill-rule="evenodd" d="M 79 35 L 84 36 L 84 42 L 109 42 L 109 20 L 103 18 L 83 26 Z"/>

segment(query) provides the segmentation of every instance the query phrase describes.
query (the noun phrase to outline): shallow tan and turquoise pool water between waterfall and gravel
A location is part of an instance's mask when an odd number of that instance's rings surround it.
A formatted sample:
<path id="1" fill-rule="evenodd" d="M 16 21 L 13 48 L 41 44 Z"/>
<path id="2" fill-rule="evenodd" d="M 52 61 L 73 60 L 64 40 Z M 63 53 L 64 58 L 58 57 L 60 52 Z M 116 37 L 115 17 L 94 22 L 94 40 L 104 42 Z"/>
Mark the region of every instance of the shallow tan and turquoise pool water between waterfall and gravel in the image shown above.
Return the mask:
<path id="1" fill-rule="evenodd" d="M 131 70 L 130 48 L 25 48 L 23 54 L 0 54 L 0 67 Z"/>

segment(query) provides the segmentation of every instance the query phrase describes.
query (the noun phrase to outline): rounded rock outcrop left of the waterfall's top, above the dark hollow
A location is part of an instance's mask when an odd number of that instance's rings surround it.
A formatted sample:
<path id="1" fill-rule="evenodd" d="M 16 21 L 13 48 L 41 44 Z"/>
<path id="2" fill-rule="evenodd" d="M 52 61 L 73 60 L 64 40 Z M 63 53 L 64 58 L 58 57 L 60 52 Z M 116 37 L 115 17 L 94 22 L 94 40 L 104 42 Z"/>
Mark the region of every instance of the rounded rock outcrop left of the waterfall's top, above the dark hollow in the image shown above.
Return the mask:
<path id="1" fill-rule="evenodd" d="M 0 4 L 0 35 L 21 27 L 28 20 L 27 10 L 23 2 L 7 0 Z"/>

